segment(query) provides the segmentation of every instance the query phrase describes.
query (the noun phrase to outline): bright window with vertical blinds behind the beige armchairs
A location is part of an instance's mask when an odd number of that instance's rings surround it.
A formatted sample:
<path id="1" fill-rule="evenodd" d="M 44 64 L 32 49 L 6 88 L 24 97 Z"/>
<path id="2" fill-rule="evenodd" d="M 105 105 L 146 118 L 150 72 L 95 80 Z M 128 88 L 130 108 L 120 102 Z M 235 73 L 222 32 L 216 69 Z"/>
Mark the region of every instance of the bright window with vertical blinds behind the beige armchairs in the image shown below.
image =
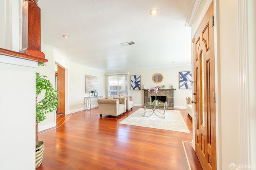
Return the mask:
<path id="1" fill-rule="evenodd" d="M 108 75 L 108 96 L 128 95 L 127 74 Z"/>

